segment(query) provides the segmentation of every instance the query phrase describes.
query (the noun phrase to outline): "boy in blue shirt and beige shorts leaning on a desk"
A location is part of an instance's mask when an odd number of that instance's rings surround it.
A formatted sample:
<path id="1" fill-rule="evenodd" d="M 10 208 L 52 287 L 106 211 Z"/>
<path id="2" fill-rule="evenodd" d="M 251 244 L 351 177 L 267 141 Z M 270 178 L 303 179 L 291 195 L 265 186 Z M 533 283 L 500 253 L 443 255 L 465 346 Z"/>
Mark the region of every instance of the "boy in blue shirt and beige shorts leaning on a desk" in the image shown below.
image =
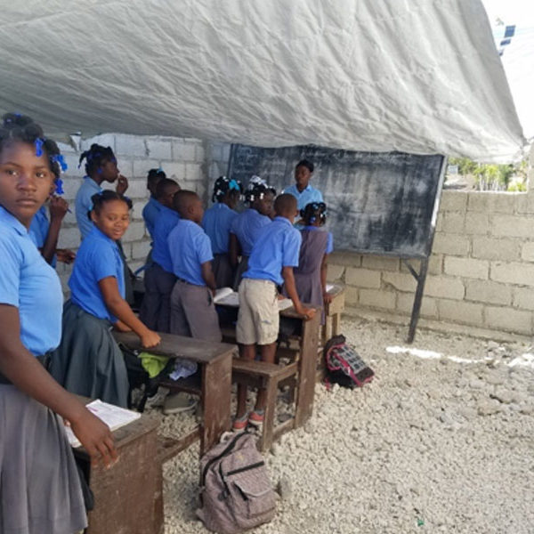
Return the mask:
<path id="1" fill-rule="evenodd" d="M 239 284 L 239 314 L 236 337 L 241 345 L 241 358 L 255 359 L 255 345 L 260 345 L 262 360 L 274 363 L 279 335 L 278 288 L 285 284 L 295 312 L 312 319 L 315 310 L 300 302 L 295 288 L 293 268 L 298 265 L 301 234 L 293 227 L 296 198 L 283 194 L 274 202 L 276 217 L 258 234 L 248 259 L 248 269 Z M 265 407 L 265 390 L 260 390 L 255 409 L 247 415 L 247 386 L 238 386 L 238 412 L 234 430 L 247 423 L 261 425 Z"/>

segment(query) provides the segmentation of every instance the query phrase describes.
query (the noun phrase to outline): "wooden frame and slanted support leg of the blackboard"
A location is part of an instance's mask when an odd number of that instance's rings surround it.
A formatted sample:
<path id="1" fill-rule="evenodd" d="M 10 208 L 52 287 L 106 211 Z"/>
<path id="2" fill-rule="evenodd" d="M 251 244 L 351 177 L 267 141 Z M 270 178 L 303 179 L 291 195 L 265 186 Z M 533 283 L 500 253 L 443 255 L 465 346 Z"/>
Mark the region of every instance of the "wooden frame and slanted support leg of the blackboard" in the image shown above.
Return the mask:
<path id="1" fill-rule="evenodd" d="M 243 174 L 242 170 L 239 170 L 239 168 L 236 169 L 235 159 L 239 158 L 239 154 L 238 154 L 239 150 L 245 150 L 245 151 L 250 150 L 251 152 L 255 152 L 257 156 L 258 151 L 261 152 L 263 150 L 265 150 L 266 153 L 268 154 L 272 154 L 273 150 L 280 150 L 280 151 L 283 151 L 283 153 L 285 154 L 287 153 L 287 151 L 291 151 L 291 150 L 296 150 L 296 153 L 299 153 L 299 150 L 300 150 L 301 154 L 305 154 L 306 152 L 310 152 L 315 149 L 319 150 L 319 154 L 321 154 L 321 152 L 324 154 L 325 150 L 328 151 L 328 149 L 321 149 L 320 147 L 312 147 L 312 146 L 280 147 L 280 149 L 262 149 L 260 147 L 247 147 L 246 145 L 232 144 L 227 174 L 232 178 L 234 177 L 238 179 L 245 178 L 245 176 L 239 175 L 239 174 Z M 334 151 L 332 150 L 332 152 Z M 342 155 L 350 153 L 349 151 L 344 151 L 344 150 L 338 151 L 338 152 L 342 153 Z M 236 157 L 236 154 L 238 154 L 237 157 Z M 359 153 L 353 152 L 353 154 L 358 155 Z M 360 153 L 360 154 L 363 154 L 364 156 L 366 155 L 366 153 Z M 418 155 L 409 155 L 409 154 L 401 154 L 401 153 L 390 153 L 390 154 L 392 154 L 392 157 L 422 158 L 421 156 L 418 156 Z M 295 157 L 295 154 L 292 154 L 292 156 Z M 377 158 L 384 158 L 384 156 L 387 156 L 387 155 L 380 154 L 380 153 L 376 154 Z M 436 157 L 441 158 L 441 159 L 438 160 L 436 159 Z M 407 339 L 408 343 L 413 342 L 413 339 L 416 333 L 417 322 L 418 322 L 419 315 L 420 315 L 421 303 L 423 300 L 423 293 L 425 289 L 425 280 L 426 280 L 426 275 L 428 272 L 429 257 L 432 252 L 433 237 L 435 233 L 435 226 L 436 226 L 437 215 L 438 215 L 438 210 L 439 210 L 439 205 L 440 205 L 441 190 L 443 187 L 443 182 L 445 179 L 445 171 L 447 168 L 447 158 L 445 156 L 434 154 L 432 155 L 432 158 L 433 158 L 433 173 L 434 173 L 433 180 L 435 181 L 435 182 L 432 182 L 433 183 L 432 187 L 435 186 L 435 193 L 433 193 L 433 190 L 429 191 L 431 195 L 433 196 L 429 198 L 425 198 L 425 205 L 424 205 L 430 208 L 430 206 L 428 205 L 430 205 L 430 203 L 432 202 L 432 214 L 430 210 L 428 210 L 427 207 L 425 207 L 425 213 L 427 217 L 425 227 L 419 228 L 419 230 L 422 229 L 423 231 L 423 234 L 421 235 L 424 239 L 421 240 L 421 237 L 419 237 L 419 240 L 417 242 L 417 250 L 408 249 L 408 251 L 405 251 L 405 250 L 399 251 L 400 247 L 398 247 L 398 250 L 392 250 L 392 251 L 388 251 L 385 249 L 372 249 L 372 250 L 359 249 L 358 247 L 349 248 L 351 252 L 354 252 L 355 254 L 359 254 L 359 255 L 383 255 L 383 256 L 389 256 L 389 257 L 398 257 L 401 259 L 401 262 L 407 266 L 411 275 L 416 279 L 417 287 L 416 287 L 414 303 L 412 306 L 412 313 L 411 313 L 411 318 L 410 318 L 410 323 L 409 323 L 409 333 L 408 333 L 408 339 Z M 313 159 L 313 156 L 312 156 L 312 159 Z M 315 158 L 315 163 L 317 163 L 318 159 L 320 161 L 320 155 L 319 157 Z M 249 174 L 246 176 L 247 180 L 250 178 L 250 174 L 262 175 L 261 172 L 258 173 L 257 170 L 252 170 L 252 168 L 249 169 L 249 171 L 250 171 Z M 402 174 L 402 175 L 407 176 L 406 174 Z M 437 175 L 437 180 L 435 180 L 436 175 Z M 264 175 L 262 177 L 268 178 L 268 176 L 264 176 Z M 392 211 L 391 213 L 394 213 L 394 211 Z M 430 219 L 428 219 L 429 214 L 431 214 Z M 346 250 L 346 249 L 347 248 L 341 247 L 341 250 Z M 419 263 L 418 270 L 416 270 L 416 268 L 410 263 L 410 260 L 416 260 Z"/>

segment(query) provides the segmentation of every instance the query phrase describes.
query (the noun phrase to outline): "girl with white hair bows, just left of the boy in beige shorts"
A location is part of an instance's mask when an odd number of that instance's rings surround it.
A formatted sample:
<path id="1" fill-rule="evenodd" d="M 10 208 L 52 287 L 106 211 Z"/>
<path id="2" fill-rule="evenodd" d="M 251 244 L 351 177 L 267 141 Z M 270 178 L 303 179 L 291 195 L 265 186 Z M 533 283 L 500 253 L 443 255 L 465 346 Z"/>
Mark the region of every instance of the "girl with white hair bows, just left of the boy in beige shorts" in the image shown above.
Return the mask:
<path id="1" fill-rule="evenodd" d="M 230 229 L 230 263 L 233 269 L 237 269 L 234 291 L 238 290 L 243 273 L 247 271 L 248 256 L 258 232 L 265 224 L 271 223 L 275 197 L 274 188 L 269 187 L 259 176 L 252 177 L 245 191 L 245 201 L 249 207 L 235 217 Z"/>

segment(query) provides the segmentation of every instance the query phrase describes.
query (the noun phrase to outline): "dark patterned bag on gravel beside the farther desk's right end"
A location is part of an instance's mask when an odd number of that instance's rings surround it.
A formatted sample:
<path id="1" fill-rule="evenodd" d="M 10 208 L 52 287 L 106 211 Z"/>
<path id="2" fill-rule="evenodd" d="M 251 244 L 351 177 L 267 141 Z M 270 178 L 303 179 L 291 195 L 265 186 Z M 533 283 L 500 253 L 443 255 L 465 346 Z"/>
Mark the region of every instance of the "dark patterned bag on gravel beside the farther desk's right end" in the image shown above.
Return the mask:
<path id="1" fill-rule="evenodd" d="M 327 383 L 350 388 L 361 387 L 375 376 L 373 369 L 360 358 L 358 352 L 346 344 L 343 335 L 331 337 L 325 344 L 323 354 Z"/>

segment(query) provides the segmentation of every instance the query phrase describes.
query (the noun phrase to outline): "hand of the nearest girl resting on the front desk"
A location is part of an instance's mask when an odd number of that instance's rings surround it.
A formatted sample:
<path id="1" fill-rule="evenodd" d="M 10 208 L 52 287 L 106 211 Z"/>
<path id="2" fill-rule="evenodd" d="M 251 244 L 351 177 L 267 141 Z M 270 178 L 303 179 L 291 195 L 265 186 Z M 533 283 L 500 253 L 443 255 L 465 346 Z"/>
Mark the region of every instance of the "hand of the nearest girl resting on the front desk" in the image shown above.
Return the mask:
<path id="1" fill-rule="evenodd" d="M 117 450 L 109 426 L 88 409 L 82 412 L 77 421 L 70 421 L 70 428 L 84 446 L 93 464 L 100 460 L 103 465 L 109 467 L 117 461 Z"/>

